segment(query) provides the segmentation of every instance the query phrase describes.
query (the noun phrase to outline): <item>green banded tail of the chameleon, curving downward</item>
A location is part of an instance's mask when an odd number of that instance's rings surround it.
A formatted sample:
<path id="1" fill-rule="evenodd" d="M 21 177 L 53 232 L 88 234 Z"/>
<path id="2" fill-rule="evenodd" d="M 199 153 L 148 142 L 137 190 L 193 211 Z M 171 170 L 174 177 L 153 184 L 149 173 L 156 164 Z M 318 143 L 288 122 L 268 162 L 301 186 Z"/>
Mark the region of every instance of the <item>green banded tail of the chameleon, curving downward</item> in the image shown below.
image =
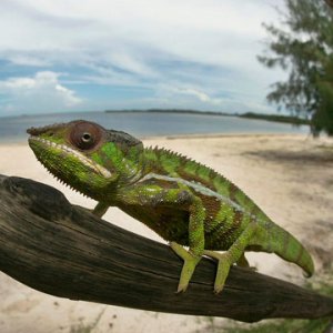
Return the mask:
<path id="1" fill-rule="evenodd" d="M 265 229 L 268 241 L 264 242 L 264 250 L 295 263 L 304 270 L 304 275 L 310 278 L 314 272 L 314 264 L 306 249 L 292 234 L 274 223 L 266 224 Z"/>

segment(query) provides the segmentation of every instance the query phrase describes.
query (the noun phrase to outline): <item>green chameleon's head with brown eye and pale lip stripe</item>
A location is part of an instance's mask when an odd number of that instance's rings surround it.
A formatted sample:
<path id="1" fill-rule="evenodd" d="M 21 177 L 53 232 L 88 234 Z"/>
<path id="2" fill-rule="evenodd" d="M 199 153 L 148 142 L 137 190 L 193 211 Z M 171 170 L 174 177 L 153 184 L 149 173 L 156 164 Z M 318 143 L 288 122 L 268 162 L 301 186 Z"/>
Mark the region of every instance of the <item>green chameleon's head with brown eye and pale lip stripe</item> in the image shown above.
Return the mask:
<path id="1" fill-rule="evenodd" d="M 141 141 L 83 120 L 31 128 L 29 145 L 56 178 L 100 200 L 140 170 Z"/>

